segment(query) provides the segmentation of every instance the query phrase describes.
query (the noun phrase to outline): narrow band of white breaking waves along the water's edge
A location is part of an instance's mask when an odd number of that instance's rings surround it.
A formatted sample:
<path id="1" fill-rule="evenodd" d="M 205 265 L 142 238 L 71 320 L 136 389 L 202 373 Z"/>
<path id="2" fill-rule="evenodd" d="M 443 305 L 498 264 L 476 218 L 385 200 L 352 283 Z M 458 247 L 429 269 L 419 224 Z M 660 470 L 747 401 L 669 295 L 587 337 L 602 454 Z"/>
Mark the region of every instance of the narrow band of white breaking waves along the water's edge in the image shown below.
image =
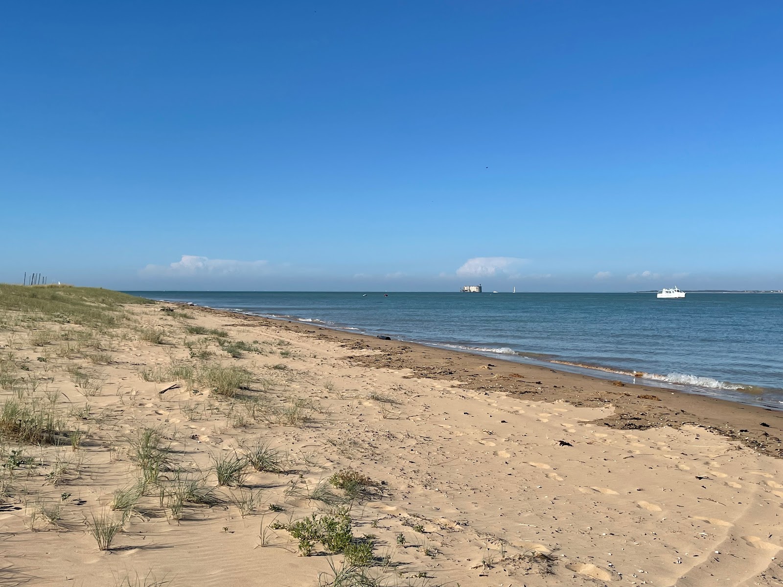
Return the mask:
<path id="1" fill-rule="evenodd" d="M 171 301 L 165 299 L 153 298 L 155 301 L 167 304 L 184 304 L 186 301 Z M 298 315 L 274 315 L 254 313 L 240 308 L 218 308 L 214 306 L 194 304 L 197 308 L 209 308 L 222 312 L 233 314 L 254 316 L 257 318 L 269 319 L 272 321 L 290 322 L 302 324 L 304 326 L 318 327 L 326 330 L 334 330 L 342 333 L 356 333 L 366 337 L 374 338 L 374 333 L 363 331 L 355 326 L 346 326 L 334 322 L 325 322 L 318 318 L 309 318 Z M 558 358 L 546 352 L 527 352 L 518 351 L 512 348 L 502 347 L 498 344 L 492 347 L 487 344 L 484 347 L 471 346 L 471 344 L 458 344 L 442 341 L 415 340 L 406 337 L 404 334 L 394 333 L 389 335 L 399 342 L 406 344 L 417 344 L 428 348 L 439 348 L 444 351 L 464 352 L 470 355 L 478 355 L 497 361 L 514 362 L 521 365 L 539 366 L 542 368 L 557 369 L 565 373 L 581 374 L 589 377 L 595 377 L 603 380 L 619 380 L 624 384 L 638 384 L 648 387 L 655 387 L 662 391 L 675 391 L 677 393 L 695 394 L 700 397 L 711 397 L 725 400 L 728 402 L 739 403 L 742 405 L 752 405 L 763 409 L 772 409 L 783 412 L 783 388 L 764 387 L 756 384 L 743 384 L 736 381 L 721 380 L 713 376 L 702 376 L 695 373 L 648 373 L 640 370 L 604 365 L 600 363 L 590 363 L 579 361 L 578 359 Z M 500 352 L 503 349 L 509 352 Z M 672 380 L 673 378 L 673 380 Z M 767 397 L 767 394 L 778 394 L 779 397 Z"/>

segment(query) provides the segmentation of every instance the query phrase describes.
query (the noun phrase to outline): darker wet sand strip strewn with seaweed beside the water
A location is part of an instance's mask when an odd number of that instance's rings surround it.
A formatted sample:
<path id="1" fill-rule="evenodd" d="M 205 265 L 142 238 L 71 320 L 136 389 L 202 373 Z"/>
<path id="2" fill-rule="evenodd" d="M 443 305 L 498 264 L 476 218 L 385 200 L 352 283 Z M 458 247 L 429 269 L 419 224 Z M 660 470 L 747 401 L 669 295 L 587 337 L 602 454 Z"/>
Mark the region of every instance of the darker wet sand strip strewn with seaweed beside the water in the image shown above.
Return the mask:
<path id="1" fill-rule="evenodd" d="M 158 301 L 159 303 L 161 301 Z M 330 328 L 317 322 L 274 319 L 245 312 L 164 302 L 183 308 L 258 321 L 258 326 L 280 325 L 285 330 L 316 334 L 333 340 L 347 350 L 380 351 L 381 355 L 347 355 L 345 358 L 366 367 L 411 369 L 416 376 L 436 380 L 467 379 L 460 387 L 474 391 L 506 391 L 543 402 L 565 401 L 576 406 L 615 406 L 615 415 L 597 423 L 619 430 L 646 430 L 651 427 L 680 428 L 696 425 L 712 430 L 763 454 L 783 459 L 783 411 L 685 392 L 655 384 L 613 381 L 586 373 L 557 369 L 559 365 L 539 366 L 506 358 L 490 358 L 469 351 L 447 350 L 405 340 L 382 340 L 370 334 Z M 227 325 L 228 326 L 228 325 Z M 316 329 L 316 330 L 313 330 Z M 455 362 L 456 355 L 458 360 Z M 438 366 L 449 365 L 448 369 Z M 668 393 L 667 393 L 668 392 Z M 645 397 L 648 396 L 648 397 Z M 662 397 L 659 397 L 662 396 Z"/>

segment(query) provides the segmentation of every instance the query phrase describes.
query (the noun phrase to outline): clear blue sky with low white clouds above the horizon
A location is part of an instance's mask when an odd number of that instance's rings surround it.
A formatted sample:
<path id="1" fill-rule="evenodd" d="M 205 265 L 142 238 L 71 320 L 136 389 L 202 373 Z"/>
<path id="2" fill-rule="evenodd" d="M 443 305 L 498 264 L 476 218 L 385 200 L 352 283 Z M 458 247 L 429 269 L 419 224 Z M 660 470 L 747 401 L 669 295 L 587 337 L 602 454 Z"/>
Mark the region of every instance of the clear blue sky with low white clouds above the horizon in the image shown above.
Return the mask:
<path id="1" fill-rule="evenodd" d="M 783 3 L 14 2 L 0 280 L 783 288 Z"/>

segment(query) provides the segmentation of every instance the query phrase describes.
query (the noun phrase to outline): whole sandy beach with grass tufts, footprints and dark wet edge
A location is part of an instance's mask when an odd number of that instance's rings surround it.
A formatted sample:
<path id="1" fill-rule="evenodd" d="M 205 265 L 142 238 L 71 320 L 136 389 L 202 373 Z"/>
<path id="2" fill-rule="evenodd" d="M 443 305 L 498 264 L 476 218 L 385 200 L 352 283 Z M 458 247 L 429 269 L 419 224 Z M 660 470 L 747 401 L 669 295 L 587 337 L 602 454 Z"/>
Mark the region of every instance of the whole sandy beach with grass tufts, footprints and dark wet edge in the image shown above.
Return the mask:
<path id="1" fill-rule="evenodd" d="M 2 288 L 4 585 L 783 582 L 781 412 Z"/>

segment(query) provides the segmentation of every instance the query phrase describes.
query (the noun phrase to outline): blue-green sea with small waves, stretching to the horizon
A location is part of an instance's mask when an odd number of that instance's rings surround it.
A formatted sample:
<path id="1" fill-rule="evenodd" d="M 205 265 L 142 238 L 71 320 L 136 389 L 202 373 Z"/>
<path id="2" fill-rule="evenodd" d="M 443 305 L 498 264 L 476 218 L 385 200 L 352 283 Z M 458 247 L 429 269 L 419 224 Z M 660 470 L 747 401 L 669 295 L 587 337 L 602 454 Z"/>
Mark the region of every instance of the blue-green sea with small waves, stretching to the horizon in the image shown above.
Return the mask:
<path id="1" fill-rule="evenodd" d="M 128 293 L 783 409 L 783 294 Z"/>

